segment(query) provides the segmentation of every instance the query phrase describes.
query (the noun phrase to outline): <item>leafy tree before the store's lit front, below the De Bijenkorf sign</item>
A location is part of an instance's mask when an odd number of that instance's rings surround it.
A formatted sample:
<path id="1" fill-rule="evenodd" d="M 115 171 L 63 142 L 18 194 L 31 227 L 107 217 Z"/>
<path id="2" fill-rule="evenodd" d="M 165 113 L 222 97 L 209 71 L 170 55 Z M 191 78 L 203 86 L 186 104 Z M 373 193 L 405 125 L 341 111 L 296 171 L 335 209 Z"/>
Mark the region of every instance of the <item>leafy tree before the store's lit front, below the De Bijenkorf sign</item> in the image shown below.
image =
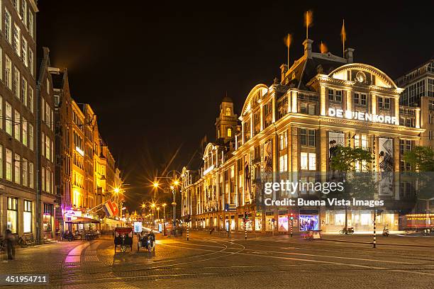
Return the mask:
<path id="1" fill-rule="evenodd" d="M 330 158 L 330 169 L 333 171 L 332 179 L 335 178 L 335 171 L 338 171 L 338 179 L 343 181 L 344 190 L 340 193 L 337 191 L 334 195 L 340 198 L 367 198 L 373 196 L 377 183 L 374 181 L 372 174 L 369 172 L 357 172 L 356 164 L 366 166 L 372 163 L 374 158 L 371 152 L 360 147 L 335 147 L 333 156 Z M 347 234 L 348 217 L 347 205 L 345 205 L 345 234 Z"/>

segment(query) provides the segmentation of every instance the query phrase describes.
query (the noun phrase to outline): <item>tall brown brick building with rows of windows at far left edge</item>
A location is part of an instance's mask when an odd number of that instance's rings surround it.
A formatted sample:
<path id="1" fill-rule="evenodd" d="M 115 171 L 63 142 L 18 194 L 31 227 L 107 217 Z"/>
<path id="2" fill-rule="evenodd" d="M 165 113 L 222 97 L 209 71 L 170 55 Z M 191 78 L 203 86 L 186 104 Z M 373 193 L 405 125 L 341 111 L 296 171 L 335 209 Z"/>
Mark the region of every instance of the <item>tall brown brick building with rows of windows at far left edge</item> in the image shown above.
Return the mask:
<path id="1" fill-rule="evenodd" d="M 33 0 L 17 3 L 0 3 L 0 229 L 42 238 L 43 202 L 53 198 L 44 194 L 36 203 L 38 7 Z"/>

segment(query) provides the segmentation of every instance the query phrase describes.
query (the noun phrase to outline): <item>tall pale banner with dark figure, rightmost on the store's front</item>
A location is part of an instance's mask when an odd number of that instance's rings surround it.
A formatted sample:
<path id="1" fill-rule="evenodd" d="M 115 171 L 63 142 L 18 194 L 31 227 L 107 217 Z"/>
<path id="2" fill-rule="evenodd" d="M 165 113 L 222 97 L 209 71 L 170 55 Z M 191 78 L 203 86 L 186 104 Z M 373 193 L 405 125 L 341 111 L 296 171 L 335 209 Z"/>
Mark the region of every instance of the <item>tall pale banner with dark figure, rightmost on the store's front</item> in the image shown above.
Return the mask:
<path id="1" fill-rule="evenodd" d="M 394 141 L 379 137 L 379 195 L 392 196 L 394 188 Z"/>

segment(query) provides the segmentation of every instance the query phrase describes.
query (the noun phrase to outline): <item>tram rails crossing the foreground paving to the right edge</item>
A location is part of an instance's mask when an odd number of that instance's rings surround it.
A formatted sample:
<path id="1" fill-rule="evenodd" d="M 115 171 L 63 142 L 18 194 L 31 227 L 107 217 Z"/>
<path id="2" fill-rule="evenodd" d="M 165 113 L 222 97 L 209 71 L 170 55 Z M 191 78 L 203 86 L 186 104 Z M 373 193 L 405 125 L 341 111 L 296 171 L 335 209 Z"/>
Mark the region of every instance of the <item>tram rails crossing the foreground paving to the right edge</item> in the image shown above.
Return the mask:
<path id="1" fill-rule="evenodd" d="M 155 261 L 150 265 L 155 265 L 156 263 L 160 263 L 157 266 L 143 266 L 140 268 L 120 268 L 116 266 L 113 270 L 112 267 L 106 268 L 104 270 L 93 271 L 93 272 L 82 272 L 80 269 L 77 271 L 68 273 L 62 273 L 59 278 L 52 278 L 51 282 L 53 285 L 68 285 L 68 284 L 77 284 L 77 283 L 89 283 L 89 282 L 123 282 L 130 280 L 159 280 L 159 279 L 168 279 L 168 278 L 194 278 L 194 277 L 206 277 L 206 276 L 237 276 L 239 274 L 245 273 L 264 273 L 265 271 L 269 271 L 270 273 L 280 272 L 280 273 L 290 273 L 290 272 L 305 272 L 305 271 L 390 271 L 395 273 L 416 273 L 423 276 L 434 276 L 434 273 L 428 273 L 423 271 L 432 271 L 430 268 L 397 268 L 396 265 L 406 265 L 406 266 L 416 266 L 416 265 L 426 265 L 433 266 L 433 264 L 416 264 L 416 263 L 403 263 L 399 261 L 390 261 L 390 260 L 372 260 L 372 259 L 357 259 L 357 258 L 341 258 L 339 256 L 328 256 L 328 255 L 316 255 L 316 254 L 302 254 L 295 253 L 292 254 L 294 257 L 289 256 L 267 256 L 267 254 L 286 254 L 288 252 L 285 251 L 270 251 L 270 250 L 262 250 L 255 249 L 257 247 L 269 247 L 269 245 L 265 244 L 252 244 L 249 243 L 249 248 L 243 244 L 239 244 L 238 240 L 220 240 L 220 239 L 202 239 L 202 243 L 194 243 L 194 242 L 175 242 L 174 244 L 160 244 L 160 246 L 171 246 L 178 249 L 190 249 L 197 251 L 207 251 L 205 254 L 197 254 L 194 256 L 185 256 L 180 258 L 192 259 L 191 261 L 181 261 L 177 262 L 177 259 L 170 260 L 161 260 Z M 182 246 L 181 246 L 182 245 Z M 233 246 L 230 246 L 233 245 Z M 234 247 L 235 246 L 235 247 Z M 204 249 L 207 248 L 207 249 Z M 213 250 L 211 248 L 216 248 Z M 274 249 L 284 249 L 282 247 L 275 247 Z M 342 249 L 342 248 L 340 248 Z M 257 254 L 257 251 L 262 251 L 264 254 Z M 325 251 L 325 250 L 323 250 Z M 331 251 L 331 250 L 327 250 Z M 253 254 L 253 253 L 255 254 Z M 289 252 L 292 253 L 292 252 Z M 213 256 L 216 254 L 222 254 L 222 256 Z M 222 259 L 234 255 L 248 255 L 255 256 L 257 258 L 278 258 L 282 260 L 289 261 L 301 261 L 303 264 L 276 264 L 276 265 L 252 265 L 252 266 L 200 266 L 200 267 L 189 267 L 189 265 L 193 263 L 212 261 L 215 259 Z M 361 261 L 361 262 L 383 262 L 389 263 L 389 265 L 393 265 L 392 268 L 387 268 L 384 266 L 367 266 L 355 263 L 343 263 L 343 262 L 335 262 L 335 261 L 324 261 L 324 260 L 313 260 L 306 258 L 315 258 L 319 257 L 321 259 L 347 259 L 352 261 Z M 370 256 L 372 258 L 372 256 Z M 382 256 L 384 257 L 384 256 Z M 175 262 L 168 263 L 166 262 Z M 140 264 L 145 265 L 145 264 Z M 316 268 L 321 265 L 321 268 Z M 130 265 L 128 265 L 130 266 Z M 303 268 L 306 266 L 307 268 Z M 289 268 L 288 270 L 284 270 L 282 268 Z M 296 268 L 294 268 L 296 267 Z M 331 267 L 325 268 L 325 267 Z M 350 267 L 350 268 L 349 268 Z M 270 270 L 272 268 L 272 270 Z M 185 271 L 185 272 L 184 272 Z M 106 274 L 104 277 L 99 276 L 99 274 Z M 109 275 L 109 276 L 107 276 Z M 111 275 L 111 276 L 110 276 Z"/>

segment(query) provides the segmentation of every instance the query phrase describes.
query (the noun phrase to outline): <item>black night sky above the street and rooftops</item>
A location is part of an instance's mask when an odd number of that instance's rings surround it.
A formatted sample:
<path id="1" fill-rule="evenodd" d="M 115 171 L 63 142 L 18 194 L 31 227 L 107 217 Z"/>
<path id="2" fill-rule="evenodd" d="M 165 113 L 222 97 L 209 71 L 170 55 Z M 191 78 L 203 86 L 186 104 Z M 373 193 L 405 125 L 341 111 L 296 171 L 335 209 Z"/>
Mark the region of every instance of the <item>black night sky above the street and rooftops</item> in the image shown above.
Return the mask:
<path id="1" fill-rule="evenodd" d="M 307 2 L 307 1 L 306 1 Z M 272 84 L 286 62 L 283 38 L 302 54 L 303 13 L 313 11 L 313 50 L 323 41 L 395 79 L 434 55 L 433 4 L 416 1 L 38 1 L 38 45 L 67 67 L 72 96 L 89 103 L 99 130 L 140 203 L 177 151 L 182 169 L 213 124 L 225 92 L 237 112 L 255 84 Z M 206 6 L 204 5 L 206 4 Z"/>

